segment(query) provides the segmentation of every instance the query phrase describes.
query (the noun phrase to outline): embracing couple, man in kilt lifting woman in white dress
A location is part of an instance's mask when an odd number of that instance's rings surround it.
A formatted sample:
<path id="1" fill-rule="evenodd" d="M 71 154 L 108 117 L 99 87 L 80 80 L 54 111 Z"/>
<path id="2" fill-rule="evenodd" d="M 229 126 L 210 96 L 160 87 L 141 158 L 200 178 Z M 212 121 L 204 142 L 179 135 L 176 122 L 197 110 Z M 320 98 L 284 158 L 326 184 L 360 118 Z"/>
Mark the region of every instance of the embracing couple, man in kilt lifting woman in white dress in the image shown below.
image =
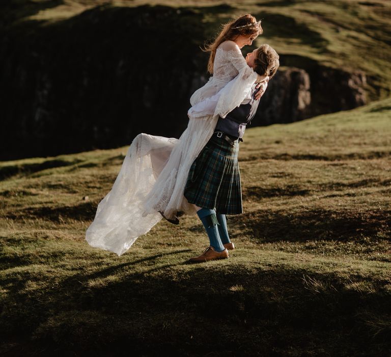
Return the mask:
<path id="1" fill-rule="evenodd" d="M 226 215 L 242 213 L 239 142 L 279 66 L 267 44 L 243 58 L 240 49 L 262 32 L 249 14 L 224 25 L 207 47 L 212 77 L 190 98 L 187 129 L 179 139 L 139 134 L 133 140 L 87 230 L 90 245 L 121 255 L 163 217 L 178 224 L 178 212 L 197 213 L 209 246 L 189 262 L 229 257 L 234 244 Z"/>

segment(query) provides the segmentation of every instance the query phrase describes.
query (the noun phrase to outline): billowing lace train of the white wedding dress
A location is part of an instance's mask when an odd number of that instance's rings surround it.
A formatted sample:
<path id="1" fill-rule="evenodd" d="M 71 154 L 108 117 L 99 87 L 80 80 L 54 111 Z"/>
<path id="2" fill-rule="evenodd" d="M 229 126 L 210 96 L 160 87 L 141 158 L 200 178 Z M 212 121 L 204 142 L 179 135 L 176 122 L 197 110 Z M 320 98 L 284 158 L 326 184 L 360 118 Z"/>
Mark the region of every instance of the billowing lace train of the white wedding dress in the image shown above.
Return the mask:
<path id="1" fill-rule="evenodd" d="M 99 203 L 86 232 L 90 245 L 120 256 L 160 221 L 158 212 L 145 215 L 145 197 L 177 142 L 148 134 L 133 140 L 113 188 Z"/>

